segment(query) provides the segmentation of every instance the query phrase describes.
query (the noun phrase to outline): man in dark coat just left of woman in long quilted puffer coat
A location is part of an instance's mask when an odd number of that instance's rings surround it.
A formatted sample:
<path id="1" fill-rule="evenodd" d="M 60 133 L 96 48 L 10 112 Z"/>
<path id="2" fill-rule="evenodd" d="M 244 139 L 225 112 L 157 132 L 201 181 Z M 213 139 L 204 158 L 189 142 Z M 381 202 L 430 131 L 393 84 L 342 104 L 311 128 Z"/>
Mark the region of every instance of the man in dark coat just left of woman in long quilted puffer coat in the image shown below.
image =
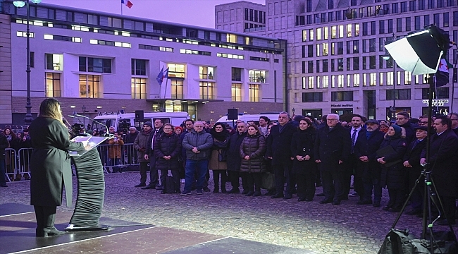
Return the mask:
<path id="1" fill-rule="evenodd" d="M 247 124 L 244 122 L 237 123 L 237 132 L 230 135 L 228 142 L 228 151 L 226 159 L 228 162 L 228 174 L 232 189 L 227 193 L 240 193 L 240 165 L 242 164 L 242 157 L 240 157 L 240 145 L 243 139 L 247 136 Z M 223 183 L 222 183 L 223 184 Z M 243 191 L 248 193 L 248 182 L 245 176 L 242 176 L 242 187 Z M 246 194 L 245 193 L 245 194 Z"/>

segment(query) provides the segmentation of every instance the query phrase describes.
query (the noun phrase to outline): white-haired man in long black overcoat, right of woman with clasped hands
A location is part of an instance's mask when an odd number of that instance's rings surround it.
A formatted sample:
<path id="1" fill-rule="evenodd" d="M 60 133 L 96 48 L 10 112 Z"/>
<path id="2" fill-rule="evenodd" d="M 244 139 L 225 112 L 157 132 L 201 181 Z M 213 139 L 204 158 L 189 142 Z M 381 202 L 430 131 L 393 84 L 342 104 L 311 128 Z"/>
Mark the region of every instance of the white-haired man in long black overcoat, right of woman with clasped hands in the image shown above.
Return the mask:
<path id="1" fill-rule="evenodd" d="M 342 174 L 345 171 L 345 162 L 348 161 L 352 140 L 348 130 L 339 123 L 338 114 L 328 114 L 328 127 L 318 130 L 316 135 L 314 156 L 315 162 L 321 171 L 324 199 L 321 204 L 332 202 L 340 205 L 344 195 Z"/>

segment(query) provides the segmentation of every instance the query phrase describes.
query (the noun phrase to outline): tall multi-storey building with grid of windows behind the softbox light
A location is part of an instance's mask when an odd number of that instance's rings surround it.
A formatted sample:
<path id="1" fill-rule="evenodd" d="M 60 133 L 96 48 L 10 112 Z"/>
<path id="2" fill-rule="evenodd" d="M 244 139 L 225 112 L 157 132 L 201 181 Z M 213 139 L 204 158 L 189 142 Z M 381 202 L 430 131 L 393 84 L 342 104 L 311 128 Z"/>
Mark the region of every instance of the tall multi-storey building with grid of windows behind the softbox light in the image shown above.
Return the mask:
<path id="1" fill-rule="evenodd" d="M 383 46 L 430 24 L 458 40 L 456 0 L 266 0 L 264 11 L 266 28 L 253 33 L 287 40 L 287 107 L 315 117 L 387 119 L 393 104 L 412 117 L 426 114 L 426 75 L 393 67 Z M 457 49 L 446 57 L 456 63 Z M 440 113 L 458 111 L 457 69 L 434 96 Z"/>

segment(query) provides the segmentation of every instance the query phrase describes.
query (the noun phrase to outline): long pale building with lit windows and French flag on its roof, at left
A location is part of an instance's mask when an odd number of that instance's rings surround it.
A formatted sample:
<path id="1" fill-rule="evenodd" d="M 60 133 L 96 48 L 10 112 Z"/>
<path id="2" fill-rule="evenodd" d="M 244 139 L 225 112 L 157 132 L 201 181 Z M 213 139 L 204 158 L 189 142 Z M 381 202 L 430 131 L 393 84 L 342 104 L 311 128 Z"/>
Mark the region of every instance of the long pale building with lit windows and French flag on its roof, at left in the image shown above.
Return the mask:
<path id="1" fill-rule="evenodd" d="M 26 10 L 3 3 L 0 39 L 11 53 L 0 123 L 23 123 Z M 2 49 L 0 49 L 1 51 Z M 49 4 L 30 6 L 32 113 L 56 97 L 63 113 L 187 111 L 214 121 L 228 108 L 283 110 L 280 40 Z M 168 68 L 168 80 L 156 78 Z M 10 75 L 11 74 L 11 75 Z M 8 91 L 7 91 L 8 92 Z M 164 106 L 165 105 L 165 106 Z M 2 105 L 3 108 L 3 105 Z M 11 121 L 9 121 L 11 119 Z"/>

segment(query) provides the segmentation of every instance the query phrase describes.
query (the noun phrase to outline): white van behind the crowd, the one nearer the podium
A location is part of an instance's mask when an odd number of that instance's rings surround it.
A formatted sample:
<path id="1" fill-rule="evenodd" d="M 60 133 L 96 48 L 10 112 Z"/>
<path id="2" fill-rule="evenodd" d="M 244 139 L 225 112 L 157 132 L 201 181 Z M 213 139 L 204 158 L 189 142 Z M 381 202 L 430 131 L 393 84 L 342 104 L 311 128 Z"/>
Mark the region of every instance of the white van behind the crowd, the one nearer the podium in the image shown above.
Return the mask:
<path id="1" fill-rule="evenodd" d="M 180 124 L 186 119 L 190 119 L 190 115 L 187 112 L 150 112 L 144 113 L 143 121 L 135 122 L 135 113 L 125 114 L 106 114 L 102 113 L 99 116 L 94 117 L 95 121 L 92 122 L 92 129 L 101 128 L 100 123 L 104 123 L 106 126 L 113 126 L 116 130 L 128 129 L 130 126 L 136 126 L 137 128 L 143 125 L 144 122 L 150 121 L 154 124 L 155 119 L 162 119 L 163 123 L 171 123 L 173 126 L 180 126 Z M 140 129 L 139 129 L 140 131 Z"/>

